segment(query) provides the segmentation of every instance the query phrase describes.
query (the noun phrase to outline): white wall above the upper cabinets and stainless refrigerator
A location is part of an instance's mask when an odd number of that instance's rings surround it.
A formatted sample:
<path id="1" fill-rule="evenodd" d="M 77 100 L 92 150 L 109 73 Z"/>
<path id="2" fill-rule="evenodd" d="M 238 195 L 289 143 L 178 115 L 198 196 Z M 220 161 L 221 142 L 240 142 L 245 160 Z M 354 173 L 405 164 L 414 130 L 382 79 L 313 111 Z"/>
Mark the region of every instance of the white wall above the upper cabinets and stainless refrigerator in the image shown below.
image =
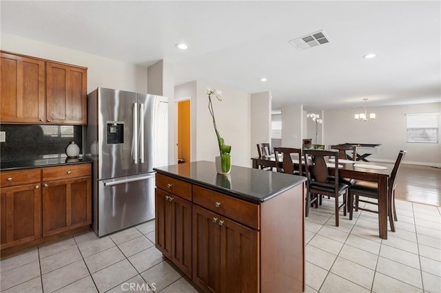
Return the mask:
<path id="1" fill-rule="evenodd" d="M 88 93 L 96 87 L 147 93 L 146 67 L 3 32 L 1 50 L 88 67 Z"/>

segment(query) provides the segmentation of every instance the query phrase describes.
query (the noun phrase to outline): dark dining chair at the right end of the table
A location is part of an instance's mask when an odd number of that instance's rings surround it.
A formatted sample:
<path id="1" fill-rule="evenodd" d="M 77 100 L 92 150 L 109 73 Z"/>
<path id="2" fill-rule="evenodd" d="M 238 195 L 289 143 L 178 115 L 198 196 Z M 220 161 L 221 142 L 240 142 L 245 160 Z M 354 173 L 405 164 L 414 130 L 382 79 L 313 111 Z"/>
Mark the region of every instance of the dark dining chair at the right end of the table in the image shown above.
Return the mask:
<path id="1" fill-rule="evenodd" d="M 391 172 L 391 177 L 389 177 L 388 186 L 387 189 L 387 215 L 389 217 L 389 223 L 391 225 L 391 230 L 395 232 L 395 224 L 393 221 L 398 221 L 397 218 L 397 212 L 395 208 L 395 180 L 398 175 L 398 169 L 400 169 L 401 162 L 404 158 L 404 155 L 406 155 L 406 151 L 400 151 L 398 153 L 397 160 L 395 164 L 393 165 L 393 169 Z M 371 199 L 377 199 L 376 202 L 369 202 L 365 199 L 360 199 L 360 196 L 369 197 Z M 355 206 L 353 205 L 353 199 L 355 197 Z M 378 184 L 373 182 L 365 182 L 365 181 L 359 181 L 357 180 L 351 188 L 349 188 L 349 219 L 352 219 L 353 214 L 353 208 L 355 210 L 366 210 L 371 213 L 378 213 L 377 210 L 371 210 L 369 208 L 360 208 L 359 203 L 365 202 L 369 204 L 376 204 L 378 206 Z"/>

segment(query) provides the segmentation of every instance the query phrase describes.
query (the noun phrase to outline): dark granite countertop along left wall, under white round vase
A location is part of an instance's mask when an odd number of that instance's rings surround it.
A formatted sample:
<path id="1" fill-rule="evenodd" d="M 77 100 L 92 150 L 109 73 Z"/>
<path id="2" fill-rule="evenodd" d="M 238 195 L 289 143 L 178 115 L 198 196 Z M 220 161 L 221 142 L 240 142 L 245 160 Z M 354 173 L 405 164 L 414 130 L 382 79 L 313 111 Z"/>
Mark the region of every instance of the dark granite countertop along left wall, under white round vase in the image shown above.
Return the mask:
<path id="1" fill-rule="evenodd" d="M 30 169 L 30 168 L 63 166 L 68 164 L 83 164 L 90 162 L 92 162 L 92 160 L 88 157 L 68 158 L 65 156 L 59 158 L 44 158 L 44 159 L 41 158 L 34 160 L 8 161 L 8 162 L 0 162 L 0 171 L 4 172 L 4 171 Z"/>

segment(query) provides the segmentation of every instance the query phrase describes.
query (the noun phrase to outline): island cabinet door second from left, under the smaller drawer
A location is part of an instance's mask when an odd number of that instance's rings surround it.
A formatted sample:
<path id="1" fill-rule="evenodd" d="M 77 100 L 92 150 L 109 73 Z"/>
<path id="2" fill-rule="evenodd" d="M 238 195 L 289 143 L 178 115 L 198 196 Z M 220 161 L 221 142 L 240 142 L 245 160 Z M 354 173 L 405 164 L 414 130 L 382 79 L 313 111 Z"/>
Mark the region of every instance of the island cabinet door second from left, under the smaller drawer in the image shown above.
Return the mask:
<path id="1" fill-rule="evenodd" d="M 192 277 L 192 203 L 169 195 L 172 205 L 172 261 Z"/>

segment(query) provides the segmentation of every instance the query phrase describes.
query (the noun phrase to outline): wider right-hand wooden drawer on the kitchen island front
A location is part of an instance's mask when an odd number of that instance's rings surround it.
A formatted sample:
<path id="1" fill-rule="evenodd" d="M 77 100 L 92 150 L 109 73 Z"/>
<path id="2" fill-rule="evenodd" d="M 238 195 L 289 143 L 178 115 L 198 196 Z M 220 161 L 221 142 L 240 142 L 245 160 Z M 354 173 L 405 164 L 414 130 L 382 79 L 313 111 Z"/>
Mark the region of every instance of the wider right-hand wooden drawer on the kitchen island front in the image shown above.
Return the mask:
<path id="1" fill-rule="evenodd" d="M 259 206 L 193 185 L 193 203 L 259 230 Z"/>

